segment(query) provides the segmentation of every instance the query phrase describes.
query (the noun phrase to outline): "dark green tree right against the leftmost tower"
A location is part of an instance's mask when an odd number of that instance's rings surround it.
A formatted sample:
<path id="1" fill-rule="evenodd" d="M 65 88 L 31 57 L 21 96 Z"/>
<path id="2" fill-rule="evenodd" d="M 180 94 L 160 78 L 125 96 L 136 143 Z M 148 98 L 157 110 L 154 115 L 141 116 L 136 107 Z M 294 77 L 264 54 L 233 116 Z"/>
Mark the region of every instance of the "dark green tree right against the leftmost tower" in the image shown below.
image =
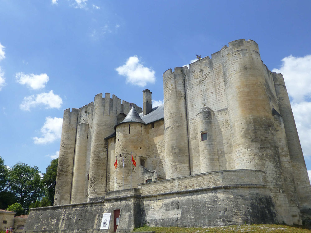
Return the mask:
<path id="1" fill-rule="evenodd" d="M 51 205 L 54 203 L 56 175 L 57 175 L 58 158 L 53 159 L 50 165 L 46 168 L 46 172 L 43 173 L 42 182 L 46 187 L 46 196 L 49 199 Z"/>

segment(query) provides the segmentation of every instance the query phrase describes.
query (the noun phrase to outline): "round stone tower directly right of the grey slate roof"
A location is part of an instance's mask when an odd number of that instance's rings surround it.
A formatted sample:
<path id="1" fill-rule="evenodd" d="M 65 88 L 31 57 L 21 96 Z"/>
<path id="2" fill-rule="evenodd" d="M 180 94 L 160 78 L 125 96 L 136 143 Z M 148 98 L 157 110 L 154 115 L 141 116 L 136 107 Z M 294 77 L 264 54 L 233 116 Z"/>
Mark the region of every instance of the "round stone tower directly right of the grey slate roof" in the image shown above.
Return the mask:
<path id="1" fill-rule="evenodd" d="M 190 175 L 183 68 L 163 74 L 166 178 Z"/>

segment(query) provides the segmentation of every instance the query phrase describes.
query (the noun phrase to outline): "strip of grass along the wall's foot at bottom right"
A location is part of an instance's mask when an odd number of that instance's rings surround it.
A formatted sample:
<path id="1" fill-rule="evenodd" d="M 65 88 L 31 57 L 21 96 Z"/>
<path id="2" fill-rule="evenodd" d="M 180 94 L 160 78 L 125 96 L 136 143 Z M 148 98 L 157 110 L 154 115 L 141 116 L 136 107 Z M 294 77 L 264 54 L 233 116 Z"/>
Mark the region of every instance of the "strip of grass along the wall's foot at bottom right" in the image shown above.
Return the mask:
<path id="1" fill-rule="evenodd" d="M 135 229 L 137 231 L 156 231 L 156 233 L 310 233 L 311 230 L 302 226 L 285 226 L 285 225 L 233 225 L 221 227 L 150 227 L 143 226 Z"/>

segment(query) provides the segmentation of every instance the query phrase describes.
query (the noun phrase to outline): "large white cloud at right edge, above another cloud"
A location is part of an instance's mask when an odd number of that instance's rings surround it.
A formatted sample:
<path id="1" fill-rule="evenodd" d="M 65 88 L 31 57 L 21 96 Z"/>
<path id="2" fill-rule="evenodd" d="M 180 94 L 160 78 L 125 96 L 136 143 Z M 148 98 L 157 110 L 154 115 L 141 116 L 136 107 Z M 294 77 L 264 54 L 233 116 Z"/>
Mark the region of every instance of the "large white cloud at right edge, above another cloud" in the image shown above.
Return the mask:
<path id="1" fill-rule="evenodd" d="M 293 102 L 311 97 L 311 55 L 284 57 L 281 68 L 273 69 L 272 72 L 283 74 L 286 89 Z"/>

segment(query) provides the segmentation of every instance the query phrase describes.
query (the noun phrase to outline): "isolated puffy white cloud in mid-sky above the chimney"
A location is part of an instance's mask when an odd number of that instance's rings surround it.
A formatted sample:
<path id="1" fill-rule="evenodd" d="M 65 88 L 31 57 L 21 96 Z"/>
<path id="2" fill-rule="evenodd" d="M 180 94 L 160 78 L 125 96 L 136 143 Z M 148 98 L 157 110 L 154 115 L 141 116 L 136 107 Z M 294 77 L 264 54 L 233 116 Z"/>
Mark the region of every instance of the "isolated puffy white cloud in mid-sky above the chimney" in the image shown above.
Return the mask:
<path id="1" fill-rule="evenodd" d="M 126 77 L 126 83 L 144 87 L 147 83 L 155 83 L 156 71 L 151 68 L 145 67 L 139 62 L 137 56 L 128 58 L 125 65 L 116 68 L 119 75 Z"/>

